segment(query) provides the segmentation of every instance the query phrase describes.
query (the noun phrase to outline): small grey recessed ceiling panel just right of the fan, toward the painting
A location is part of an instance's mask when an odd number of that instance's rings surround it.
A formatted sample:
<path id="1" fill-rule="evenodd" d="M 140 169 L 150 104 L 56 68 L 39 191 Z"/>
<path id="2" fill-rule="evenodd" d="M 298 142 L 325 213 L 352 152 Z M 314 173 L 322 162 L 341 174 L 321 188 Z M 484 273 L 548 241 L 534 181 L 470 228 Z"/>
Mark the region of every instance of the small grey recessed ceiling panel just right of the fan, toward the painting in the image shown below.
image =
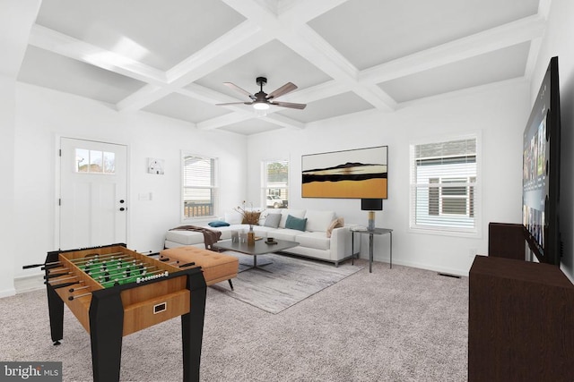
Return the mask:
<path id="1" fill-rule="evenodd" d="M 287 116 L 296 121 L 309 123 L 321 119 L 332 118 L 339 115 L 357 113 L 372 109 L 373 106 L 353 92 L 339 94 L 311 102 L 304 110 L 281 108 L 280 115 Z"/>

